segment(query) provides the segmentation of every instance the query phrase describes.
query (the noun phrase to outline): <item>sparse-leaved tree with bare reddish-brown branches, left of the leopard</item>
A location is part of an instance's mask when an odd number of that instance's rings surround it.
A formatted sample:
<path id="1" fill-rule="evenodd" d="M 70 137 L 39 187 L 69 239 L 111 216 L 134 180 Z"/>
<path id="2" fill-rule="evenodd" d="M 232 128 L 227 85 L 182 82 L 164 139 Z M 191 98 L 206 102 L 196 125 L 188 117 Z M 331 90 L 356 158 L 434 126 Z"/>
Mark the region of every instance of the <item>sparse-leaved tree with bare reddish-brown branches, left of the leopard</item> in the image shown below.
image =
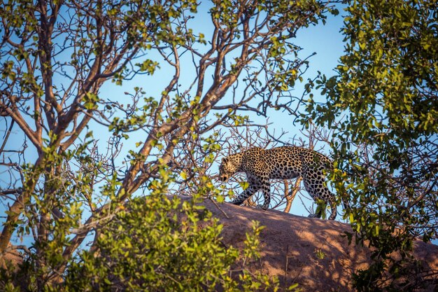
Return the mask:
<path id="1" fill-rule="evenodd" d="M 0 253 L 27 254 L 27 280 L 36 290 L 64 279 L 86 238 L 99 254 L 99 238 L 135 196 L 162 190 L 223 200 L 207 175 L 221 147 L 217 129 L 248 123 L 242 113 L 293 113 L 288 90 L 307 63 L 297 57 L 295 34 L 324 20 L 330 6 L 212 1 L 208 34 L 192 28 L 197 6 L 192 0 L 0 5 L 0 113 L 8 129 L 0 152 L 10 177 L 0 188 L 8 204 Z M 160 69 L 172 72 L 161 83 Z M 150 89 L 157 83 L 159 94 Z M 130 87 L 120 96 L 108 94 L 108 88 L 118 92 L 111 84 Z M 22 146 L 11 132 L 24 136 Z M 136 146 L 120 158 L 124 143 Z M 30 250 L 11 242 L 29 234 Z"/>

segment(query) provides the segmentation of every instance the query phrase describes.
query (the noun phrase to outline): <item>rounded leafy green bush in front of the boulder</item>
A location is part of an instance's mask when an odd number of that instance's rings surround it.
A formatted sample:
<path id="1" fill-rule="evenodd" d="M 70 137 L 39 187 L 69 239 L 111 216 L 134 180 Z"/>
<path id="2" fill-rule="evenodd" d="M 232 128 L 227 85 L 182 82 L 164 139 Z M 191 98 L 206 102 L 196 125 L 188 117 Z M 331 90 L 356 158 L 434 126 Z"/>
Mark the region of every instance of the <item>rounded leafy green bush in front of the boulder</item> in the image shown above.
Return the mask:
<path id="1" fill-rule="evenodd" d="M 254 226 L 255 232 L 247 235 L 251 242 L 246 249 L 257 249 L 254 243 L 260 230 Z M 221 230 L 217 219 L 193 200 L 169 200 L 164 195 L 137 198 L 101 230 L 99 253 L 80 253 L 80 261 L 67 274 L 65 291 L 278 288 L 248 272 L 245 281 L 230 277 L 239 251 L 220 242 Z"/>

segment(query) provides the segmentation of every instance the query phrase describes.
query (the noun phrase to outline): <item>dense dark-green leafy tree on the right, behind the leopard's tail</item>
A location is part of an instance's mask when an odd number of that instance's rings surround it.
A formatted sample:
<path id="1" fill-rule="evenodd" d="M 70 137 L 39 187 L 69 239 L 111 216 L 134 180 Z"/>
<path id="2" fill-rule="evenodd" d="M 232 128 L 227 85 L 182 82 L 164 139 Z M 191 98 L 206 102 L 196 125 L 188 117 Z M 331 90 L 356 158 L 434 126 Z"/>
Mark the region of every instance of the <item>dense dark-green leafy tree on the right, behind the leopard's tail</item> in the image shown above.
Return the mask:
<path id="1" fill-rule="evenodd" d="M 437 275 L 407 266 L 415 238 L 438 237 L 437 8 L 348 1 L 346 53 L 336 76 L 316 81 L 327 101 L 308 106 L 312 120 L 334 130 L 332 178 L 351 204 L 358 242 L 374 248 L 360 291 L 411 291 Z"/>

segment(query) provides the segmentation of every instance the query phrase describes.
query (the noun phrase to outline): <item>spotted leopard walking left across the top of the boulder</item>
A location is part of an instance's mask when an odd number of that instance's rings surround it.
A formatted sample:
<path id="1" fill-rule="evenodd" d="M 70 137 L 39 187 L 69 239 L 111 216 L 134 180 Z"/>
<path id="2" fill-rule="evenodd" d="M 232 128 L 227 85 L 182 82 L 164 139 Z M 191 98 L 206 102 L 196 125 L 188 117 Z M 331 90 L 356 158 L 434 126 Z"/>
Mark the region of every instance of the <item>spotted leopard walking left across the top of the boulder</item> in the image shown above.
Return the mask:
<path id="1" fill-rule="evenodd" d="M 245 200 L 261 190 L 264 203 L 258 207 L 264 210 L 268 209 L 271 202 L 270 179 L 295 179 L 302 176 L 306 191 L 315 202 L 323 200 L 326 205 L 330 205 L 329 219 L 334 220 L 337 216 L 337 201 L 325 183 L 325 173 L 330 169 L 333 169 L 332 160 L 309 148 L 299 146 L 279 146 L 269 149 L 251 147 L 246 151 L 222 158 L 218 176 L 221 181 L 227 182 L 233 174 L 245 173 L 248 187 L 231 203 L 243 204 Z M 316 214 L 310 214 L 309 217 L 321 218 L 323 211 L 323 208 L 318 208 Z"/>

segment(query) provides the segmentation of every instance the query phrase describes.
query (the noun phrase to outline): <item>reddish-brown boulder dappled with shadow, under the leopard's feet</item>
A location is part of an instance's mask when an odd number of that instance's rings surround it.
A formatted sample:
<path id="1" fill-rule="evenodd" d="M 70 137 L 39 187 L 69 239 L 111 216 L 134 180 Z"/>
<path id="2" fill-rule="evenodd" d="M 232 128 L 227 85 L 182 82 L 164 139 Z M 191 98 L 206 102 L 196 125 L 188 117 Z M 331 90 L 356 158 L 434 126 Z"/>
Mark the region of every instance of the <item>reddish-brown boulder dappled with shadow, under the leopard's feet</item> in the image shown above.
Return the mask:
<path id="1" fill-rule="evenodd" d="M 251 221 L 265 226 L 260 235 L 261 260 L 249 270 L 276 275 L 283 287 L 298 283 L 303 291 L 353 291 L 353 272 L 369 265 L 369 249 L 348 245 L 348 239 L 341 237 L 351 232 L 346 223 L 209 200 L 204 205 L 224 225 L 222 242 L 227 246 L 243 246 Z M 438 271 L 438 246 L 417 241 L 415 256 Z M 438 279 L 425 291 L 438 291 Z"/>

